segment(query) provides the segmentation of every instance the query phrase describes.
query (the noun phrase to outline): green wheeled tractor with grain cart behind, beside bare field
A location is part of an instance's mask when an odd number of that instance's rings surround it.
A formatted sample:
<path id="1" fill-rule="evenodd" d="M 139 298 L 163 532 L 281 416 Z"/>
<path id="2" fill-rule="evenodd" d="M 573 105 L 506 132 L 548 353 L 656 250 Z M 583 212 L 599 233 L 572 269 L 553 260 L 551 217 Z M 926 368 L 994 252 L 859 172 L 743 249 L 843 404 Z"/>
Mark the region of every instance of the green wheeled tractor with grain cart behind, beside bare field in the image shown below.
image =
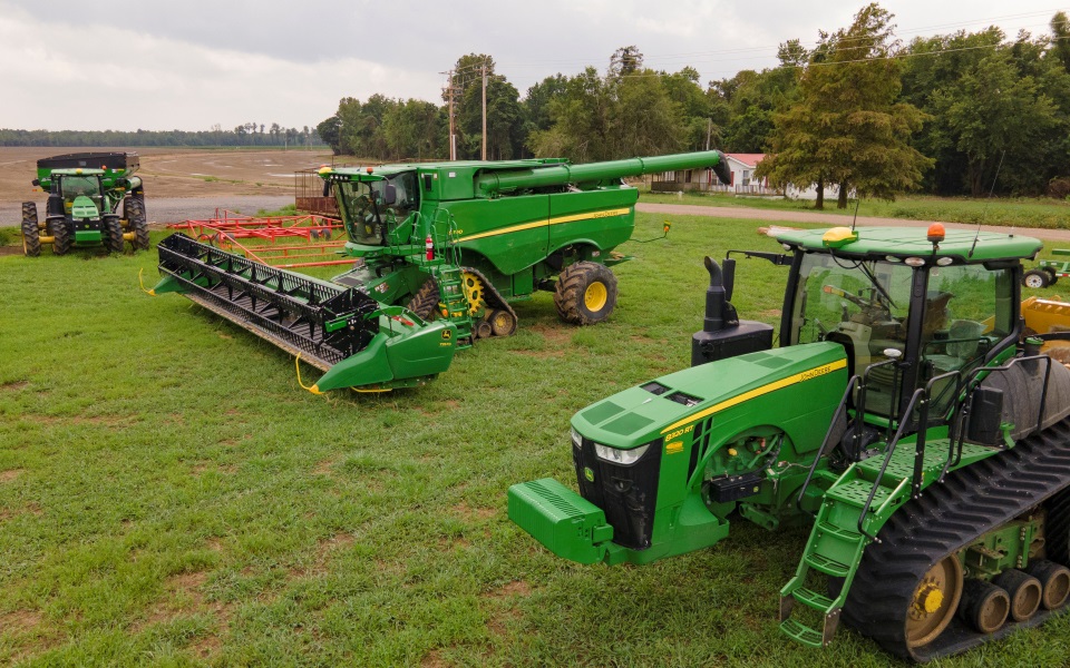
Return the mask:
<path id="1" fill-rule="evenodd" d="M 137 154 L 82 153 L 41 158 L 33 185 L 48 193 L 45 219 L 37 204 L 22 203 L 22 252 L 42 245 L 66 255 L 71 248 L 100 247 L 121 253 L 126 242 L 148 250 L 148 222 L 142 179 L 134 176 Z M 121 212 L 120 212 L 121 205 Z"/>

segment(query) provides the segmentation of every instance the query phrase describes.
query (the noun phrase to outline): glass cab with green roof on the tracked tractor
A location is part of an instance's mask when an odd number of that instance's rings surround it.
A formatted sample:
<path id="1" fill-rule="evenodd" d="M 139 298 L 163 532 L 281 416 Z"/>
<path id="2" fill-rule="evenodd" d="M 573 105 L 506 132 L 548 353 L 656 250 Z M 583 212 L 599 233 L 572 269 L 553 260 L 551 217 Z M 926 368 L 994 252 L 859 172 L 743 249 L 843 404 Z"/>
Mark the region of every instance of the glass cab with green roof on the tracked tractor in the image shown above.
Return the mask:
<path id="1" fill-rule="evenodd" d="M 991 233 L 902 229 L 800 232 L 778 237 L 795 252 L 785 294 L 782 345 L 840 344 L 849 375 L 867 375 L 866 411 L 895 419 L 930 380 L 963 375 L 1012 350 L 1021 336 L 1020 262 L 1039 249 Z M 999 237 L 1000 257 L 986 252 Z M 1008 247 L 1011 252 L 1008 253 Z M 955 383 L 936 387 L 932 410 Z M 938 414 L 938 413 L 937 413 Z"/>

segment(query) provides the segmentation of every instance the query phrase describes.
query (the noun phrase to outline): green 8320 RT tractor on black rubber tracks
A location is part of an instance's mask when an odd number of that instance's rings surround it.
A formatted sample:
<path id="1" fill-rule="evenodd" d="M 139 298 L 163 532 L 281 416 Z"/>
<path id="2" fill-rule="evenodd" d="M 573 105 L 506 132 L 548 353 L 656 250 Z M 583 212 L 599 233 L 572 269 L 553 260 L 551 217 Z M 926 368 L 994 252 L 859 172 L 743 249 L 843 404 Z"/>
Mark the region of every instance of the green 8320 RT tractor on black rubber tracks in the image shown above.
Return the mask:
<path id="1" fill-rule="evenodd" d="M 785 253 L 780 347 L 740 321 L 735 263 L 707 258 L 692 367 L 572 419 L 577 494 L 513 485 L 509 518 L 580 563 L 644 564 L 749 520 L 813 523 L 780 630 L 827 646 L 840 619 L 925 661 L 1064 609 L 1070 371 L 1023 336 L 1039 240 L 915 228 L 805 230 Z M 770 606 L 772 607 L 772 606 Z"/>

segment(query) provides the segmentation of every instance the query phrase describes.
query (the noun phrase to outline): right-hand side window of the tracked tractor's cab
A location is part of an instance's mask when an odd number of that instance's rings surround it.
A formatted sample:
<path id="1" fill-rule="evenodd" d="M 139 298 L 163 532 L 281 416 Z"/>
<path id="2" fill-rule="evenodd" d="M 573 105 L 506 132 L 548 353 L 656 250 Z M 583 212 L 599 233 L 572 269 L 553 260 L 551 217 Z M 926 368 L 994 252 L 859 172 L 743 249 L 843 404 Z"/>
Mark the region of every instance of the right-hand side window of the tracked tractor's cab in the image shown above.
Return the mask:
<path id="1" fill-rule="evenodd" d="M 922 318 L 923 379 L 977 366 L 1014 328 L 1013 276 L 981 265 L 933 267 Z M 953 384 L 934 389 L 931 412 L 951 401 Z M 945 396 L 946 395 L 946 396 Z"/>

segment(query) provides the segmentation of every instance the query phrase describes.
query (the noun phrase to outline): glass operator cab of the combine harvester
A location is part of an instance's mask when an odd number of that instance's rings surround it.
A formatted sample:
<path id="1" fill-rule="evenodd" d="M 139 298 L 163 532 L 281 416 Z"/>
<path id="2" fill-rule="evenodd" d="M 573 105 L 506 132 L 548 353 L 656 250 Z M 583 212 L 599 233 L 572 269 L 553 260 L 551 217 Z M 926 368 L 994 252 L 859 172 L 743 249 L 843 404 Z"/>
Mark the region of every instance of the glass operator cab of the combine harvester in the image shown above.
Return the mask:
<path id="1" fill-rule="evenodd" d="M 416 170 L 391 168 L 321 170 L 324 191 L 333 189 L 338 209 L 349 234 L 347 248 L 356 255 L 412 239 L 419 210 Z"/>

